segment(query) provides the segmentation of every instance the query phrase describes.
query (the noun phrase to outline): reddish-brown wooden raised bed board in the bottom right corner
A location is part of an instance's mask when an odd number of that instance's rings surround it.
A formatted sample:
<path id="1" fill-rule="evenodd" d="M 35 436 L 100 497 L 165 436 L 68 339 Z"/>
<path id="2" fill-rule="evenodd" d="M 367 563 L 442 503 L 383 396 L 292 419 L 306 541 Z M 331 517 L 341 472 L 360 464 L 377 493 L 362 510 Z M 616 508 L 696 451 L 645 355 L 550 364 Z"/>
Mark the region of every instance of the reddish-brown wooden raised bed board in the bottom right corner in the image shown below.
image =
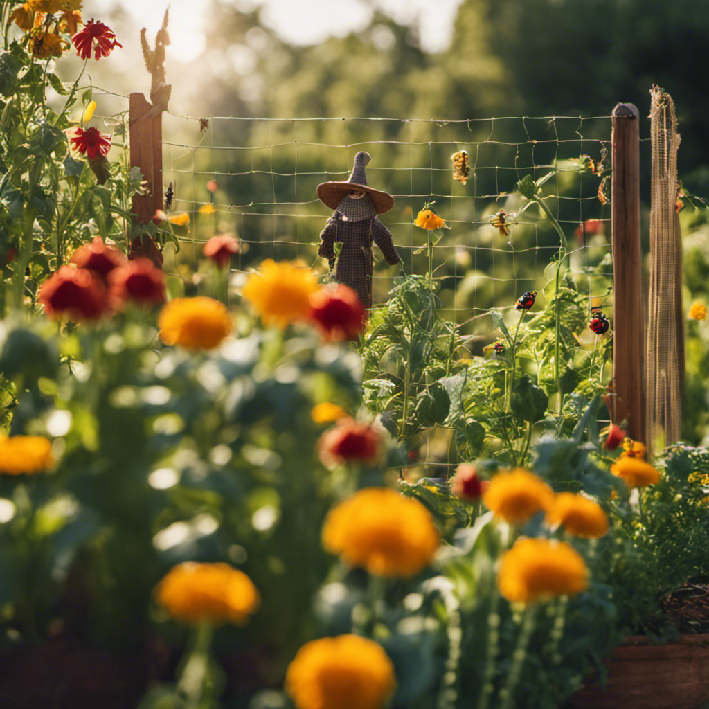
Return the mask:
<path id="1" fill-rule="evenodd" d="M 627 637 L 608 661 L 608 684 L 587 682 L 571 697 L 573 709 L 697 709 L 709 700 L 709 635 L 681 635 L 652 645 Z"/>

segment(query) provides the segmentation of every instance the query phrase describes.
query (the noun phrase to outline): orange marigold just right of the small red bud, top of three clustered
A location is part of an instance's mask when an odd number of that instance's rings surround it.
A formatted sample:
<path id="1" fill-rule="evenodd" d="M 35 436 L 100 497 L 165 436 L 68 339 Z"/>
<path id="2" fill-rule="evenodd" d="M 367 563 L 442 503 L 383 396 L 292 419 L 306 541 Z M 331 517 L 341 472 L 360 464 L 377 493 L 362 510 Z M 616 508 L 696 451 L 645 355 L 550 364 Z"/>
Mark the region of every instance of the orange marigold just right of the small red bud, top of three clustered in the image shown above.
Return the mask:
<path id="1" fill-rule="evenodd" d="M 549 510 L 553 502 L 554 493 L 545 481 L 523 468 L 498 473 L 483 495 L 486 508 L 515 524 Z"/>

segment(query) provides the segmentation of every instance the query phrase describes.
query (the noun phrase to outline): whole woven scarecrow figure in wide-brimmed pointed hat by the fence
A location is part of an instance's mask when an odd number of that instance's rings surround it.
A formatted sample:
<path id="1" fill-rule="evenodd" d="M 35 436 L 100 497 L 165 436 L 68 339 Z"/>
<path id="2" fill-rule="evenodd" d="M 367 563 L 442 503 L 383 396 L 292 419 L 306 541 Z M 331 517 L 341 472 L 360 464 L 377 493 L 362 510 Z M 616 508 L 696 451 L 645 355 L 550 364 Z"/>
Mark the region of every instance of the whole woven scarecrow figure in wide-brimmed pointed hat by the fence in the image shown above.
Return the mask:
<path id="1" fill-rule="evenodd" d="M 369 153 L 358 152 L 347 182 L 318 185 L 320 201 L 335 210 L 320 234 L 318 255 L 329 260 L 336 281 L 357 291 L 365 308 L 372 307 L 372 240 L 390 266 L 400 261 L 391 233 L 376 218 L 394 206 L 394 198 L 367 186 L 365 168 L 369 160 L 372 160 Z M 336 241 L 342 242 L 337 259 Z"/>

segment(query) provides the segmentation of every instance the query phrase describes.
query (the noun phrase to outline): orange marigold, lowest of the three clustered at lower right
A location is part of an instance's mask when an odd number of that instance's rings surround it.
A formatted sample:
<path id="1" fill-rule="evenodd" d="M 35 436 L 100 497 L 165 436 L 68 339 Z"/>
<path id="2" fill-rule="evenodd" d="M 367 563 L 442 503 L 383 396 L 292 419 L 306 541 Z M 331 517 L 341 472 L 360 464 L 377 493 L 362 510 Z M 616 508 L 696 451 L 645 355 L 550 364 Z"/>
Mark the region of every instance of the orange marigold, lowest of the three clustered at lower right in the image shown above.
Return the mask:
<path id="1" fill-rule="evenodd" d="M 588 588 L 588 569 L 566 542 L 520 539 L 503 554 L 497 585 L 510 603 L 576 596 Z"/>

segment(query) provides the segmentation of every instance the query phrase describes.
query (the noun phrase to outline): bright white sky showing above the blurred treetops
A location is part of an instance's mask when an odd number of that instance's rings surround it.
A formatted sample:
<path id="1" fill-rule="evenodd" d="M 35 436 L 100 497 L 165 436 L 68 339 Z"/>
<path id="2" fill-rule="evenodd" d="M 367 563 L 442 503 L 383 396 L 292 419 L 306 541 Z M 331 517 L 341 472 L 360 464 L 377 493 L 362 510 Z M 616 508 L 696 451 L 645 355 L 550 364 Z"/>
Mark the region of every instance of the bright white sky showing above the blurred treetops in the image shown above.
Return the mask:
<path id="1" fill-rule="evenodd" d="M 168 54 L 175 60 L 190 61 L 198 57 L 205 46 L 202 33 L 203 17 L 211 0 L 84 0 L 86 18 L 101 17 L 108 5 L 123 6 L 135 16 L 140 27 L 147 28 L 152 42 L 162 24 L 169 1 L 169 34 L 172 44 Z M 291 43 L 317 44 L 330 35 L 346 35 L 367 26 L 372 17 L 371 4 L 362 0 L 219 0 L 238 9 L 252 10 L 262 6 L 264 24 Z M 462 0 L 374 0 L 376 6 L 397 21 L 408 22 L 418 17 L 423 48 L 429 52 L 445 49 L 450 39 L 455 13 Z M 139 49 L 136 37 L 123 42 L 125 50 Z M 135 45 L 133 45 L 135 42 Z"/>

